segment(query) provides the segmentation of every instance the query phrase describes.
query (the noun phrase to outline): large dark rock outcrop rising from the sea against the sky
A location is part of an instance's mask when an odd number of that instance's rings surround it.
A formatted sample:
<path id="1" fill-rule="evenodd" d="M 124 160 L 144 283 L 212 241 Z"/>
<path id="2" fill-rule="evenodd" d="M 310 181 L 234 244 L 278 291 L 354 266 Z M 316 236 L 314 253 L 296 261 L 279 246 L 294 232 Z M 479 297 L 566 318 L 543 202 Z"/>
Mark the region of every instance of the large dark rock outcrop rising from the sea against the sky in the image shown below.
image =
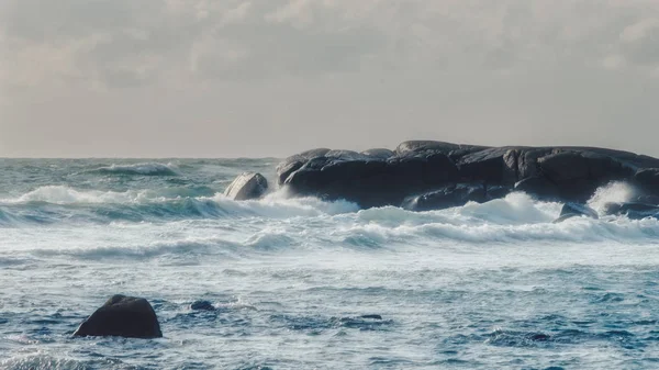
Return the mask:
<path id="1" fill-rule="evenodd" d="M 659 159 L 593 147 L 485 147 L 412 141 L 393 152 L 304 152 L 282 161 L 277 175 L 279 184 L 295 194 L 346 199 L 364 208 L 410 204 L 415 197 L 427 204 L 420 209 L 490 199 L 477 197 L 474 191 L 462 197 L 465 189 L 479 187 L 514 188 L 541 199 L 583 203 L 613 180 L 657 189 Z"/>

